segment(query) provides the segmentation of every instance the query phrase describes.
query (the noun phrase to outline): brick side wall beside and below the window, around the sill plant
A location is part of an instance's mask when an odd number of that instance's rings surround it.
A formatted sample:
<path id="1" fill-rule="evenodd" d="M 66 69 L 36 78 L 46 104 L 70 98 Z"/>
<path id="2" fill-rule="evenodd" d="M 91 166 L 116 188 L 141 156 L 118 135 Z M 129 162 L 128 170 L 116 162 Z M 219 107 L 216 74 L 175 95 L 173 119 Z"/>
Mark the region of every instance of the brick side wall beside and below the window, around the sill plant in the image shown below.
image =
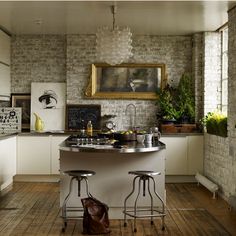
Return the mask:
<path id="1" fill-rule="evenodd" d="M 221 103 L 221 35 L 203 34 L 204 115 L 220 109 Z M 204 174 L 220 186 L 220 193 L 229 196 L 229 139 L 205 134 Z"/>

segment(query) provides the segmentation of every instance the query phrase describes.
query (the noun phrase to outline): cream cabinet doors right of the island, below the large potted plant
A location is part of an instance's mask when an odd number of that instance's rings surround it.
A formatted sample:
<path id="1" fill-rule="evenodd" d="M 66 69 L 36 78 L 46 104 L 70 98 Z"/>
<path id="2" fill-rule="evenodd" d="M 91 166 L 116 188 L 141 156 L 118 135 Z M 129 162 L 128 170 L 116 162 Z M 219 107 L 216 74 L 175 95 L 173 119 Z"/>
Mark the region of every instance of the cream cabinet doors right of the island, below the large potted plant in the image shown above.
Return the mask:
<path id="1" fill-rule="evenodd" d="M 203 135 L 162 137 L 166 144 L 166 175 L 195 175 L 203 171 Z"/>

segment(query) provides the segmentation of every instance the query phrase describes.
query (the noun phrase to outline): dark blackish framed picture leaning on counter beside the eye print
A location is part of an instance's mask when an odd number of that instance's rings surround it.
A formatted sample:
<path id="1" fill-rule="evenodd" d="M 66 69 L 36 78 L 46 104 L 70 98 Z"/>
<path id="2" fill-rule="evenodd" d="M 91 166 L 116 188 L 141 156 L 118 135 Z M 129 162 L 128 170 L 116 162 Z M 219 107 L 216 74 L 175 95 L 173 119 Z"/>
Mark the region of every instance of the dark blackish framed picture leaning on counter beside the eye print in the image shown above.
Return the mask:
<path id="1" fill-rule="evenodd" d="M 92 122 L 93 130 L 100 130 L 101 105 L 66 105 L 66 130 L 86 129 L 88 121 Z"/>

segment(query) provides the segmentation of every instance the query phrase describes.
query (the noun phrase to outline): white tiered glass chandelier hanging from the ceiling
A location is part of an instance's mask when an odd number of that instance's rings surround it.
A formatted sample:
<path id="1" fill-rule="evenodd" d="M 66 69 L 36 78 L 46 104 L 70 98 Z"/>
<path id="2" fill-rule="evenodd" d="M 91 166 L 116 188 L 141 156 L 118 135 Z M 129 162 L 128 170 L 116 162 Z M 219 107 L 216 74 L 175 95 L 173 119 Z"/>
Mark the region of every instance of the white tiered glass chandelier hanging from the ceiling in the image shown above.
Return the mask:
<path id="1" fill-rule="evenodd" d="M 117 7 L 111 6 L 113 28 L 101 27 L 96 33 L 97 59 L 110 65 L 117 65 L 129 59 L 132 54 L 132 33 L 128 27 L 115 25 Z"/>

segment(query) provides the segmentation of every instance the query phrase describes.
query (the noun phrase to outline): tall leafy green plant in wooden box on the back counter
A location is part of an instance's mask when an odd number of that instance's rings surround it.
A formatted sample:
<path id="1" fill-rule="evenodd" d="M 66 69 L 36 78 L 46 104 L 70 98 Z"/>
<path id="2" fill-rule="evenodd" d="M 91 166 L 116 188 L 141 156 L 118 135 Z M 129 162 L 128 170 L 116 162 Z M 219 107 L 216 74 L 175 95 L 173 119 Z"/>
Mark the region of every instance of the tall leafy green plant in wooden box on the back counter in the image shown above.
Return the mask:
<path id="1" fill-rule="evenodd" d="M 194 122 L 195 97 L 190 75 L 183 74 L 177 88 L 167 85 L 163 90 L 158 91 L 157 94 L 159 96 L 157 101 L 159 106 L 157 119 L 164 132 L 189 133 L 196 130 Z M 176 124 L 172 127 L 163 126 L 163 124 L 167 123 L 178 123 L 178 125 Z"/>

